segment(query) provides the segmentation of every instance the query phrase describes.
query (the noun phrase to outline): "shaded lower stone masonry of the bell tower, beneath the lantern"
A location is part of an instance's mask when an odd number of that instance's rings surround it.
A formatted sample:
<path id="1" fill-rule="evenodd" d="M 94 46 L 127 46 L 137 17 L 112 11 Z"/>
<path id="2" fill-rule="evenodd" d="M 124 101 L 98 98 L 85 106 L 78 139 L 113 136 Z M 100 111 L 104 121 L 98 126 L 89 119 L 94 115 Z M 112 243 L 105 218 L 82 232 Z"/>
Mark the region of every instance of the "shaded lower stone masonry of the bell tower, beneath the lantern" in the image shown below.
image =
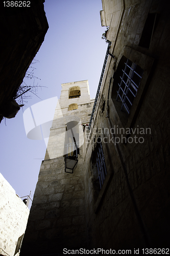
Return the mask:
<path id="1" fill-rule="evenodd" d="M 73 174 L 64 165 L 63 157 L 42 161 L 21 255 L 30 246 L 33 255 L 87 247 L 82 158 Z"/>

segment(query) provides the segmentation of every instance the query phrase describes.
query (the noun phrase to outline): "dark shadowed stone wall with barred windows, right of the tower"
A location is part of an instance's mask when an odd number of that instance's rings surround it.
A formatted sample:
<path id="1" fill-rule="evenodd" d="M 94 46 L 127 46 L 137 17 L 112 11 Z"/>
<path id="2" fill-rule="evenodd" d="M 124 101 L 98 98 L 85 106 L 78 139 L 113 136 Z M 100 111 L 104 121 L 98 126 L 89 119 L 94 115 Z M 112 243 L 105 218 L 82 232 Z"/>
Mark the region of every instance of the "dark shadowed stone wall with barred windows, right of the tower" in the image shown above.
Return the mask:
<path id="1" fill-rule="evenodd" d="M 110 53 L 115 58 L 108 57 L 84 160 L 86 222 L 91 248 L 168 247 L 170 120 L 167 6 L 167 1 L 125 1 L 120 27 L 112 39 L 113 30 L 109 28 L 108 39 L 113 41 Z M 148 13 L 158 14 L 149 49 L 139 46 Z M 129 115 L 117 110 L 118 103 L 113 93 L 115 74 L 123 56 L 144 70 Z M 106 118 L 107 103 L 110 118 Z M 137 132 L 140 128 L 144 129 L 143 134 Z M 123 129 L 130 129 L 131 134 L 125 134 Z M 96 198 L 91 155 L 95 152 L 99 136 L 102 138 L 107 176 Z M 123 141 L 118 142 L 122 136 Z M 140 142 L 137 139 L 135 143 L 135 136 L 141 137 Z M 129 137 L 131 139 L 126 143 Z"/>

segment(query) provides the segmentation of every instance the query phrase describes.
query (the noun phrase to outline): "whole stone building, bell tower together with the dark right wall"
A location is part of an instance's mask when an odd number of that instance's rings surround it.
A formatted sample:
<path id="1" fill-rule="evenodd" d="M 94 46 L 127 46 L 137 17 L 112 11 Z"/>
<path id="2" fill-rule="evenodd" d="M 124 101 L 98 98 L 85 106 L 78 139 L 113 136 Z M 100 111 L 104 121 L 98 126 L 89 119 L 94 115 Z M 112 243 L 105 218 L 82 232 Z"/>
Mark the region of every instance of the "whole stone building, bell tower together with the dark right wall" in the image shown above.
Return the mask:
<path id="1" fill-rule="evenodd" d="M 102 4 L 109 45 L 98 92 L 80 106 L 82 90 L 71 99 L 74 84 L 62 85 L 21 255 L 169 246 L 169 3 Z M 89 121 L 84 132 L 77 117 Z M 80 151 L 67 174 L 72 121 Z"/>

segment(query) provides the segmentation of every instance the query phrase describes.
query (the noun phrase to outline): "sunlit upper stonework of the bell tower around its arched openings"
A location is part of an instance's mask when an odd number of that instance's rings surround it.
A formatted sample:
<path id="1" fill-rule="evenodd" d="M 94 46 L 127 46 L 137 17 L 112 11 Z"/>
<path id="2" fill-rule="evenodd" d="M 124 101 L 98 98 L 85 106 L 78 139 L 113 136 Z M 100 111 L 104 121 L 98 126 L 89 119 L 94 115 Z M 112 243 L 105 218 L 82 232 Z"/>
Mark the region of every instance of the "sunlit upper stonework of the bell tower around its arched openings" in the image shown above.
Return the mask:
<path id="1" fill-rule="evenodd" d="M 57 102 L 50 137 L 45 154 L 45 160 L 64 155 L 66 124 L 77 121 L 79 126 L 79 145 L 83 145 L 82 124 L 88 123 L 91 116 L 94 100 L 90 99 L 88 80 L 63 83 L 60 99 Z M 81 96 L 69 98 L 69 89 L 79 87 Z M 78 108 L 69 110 L 69 105 L 76 103 Z"/>

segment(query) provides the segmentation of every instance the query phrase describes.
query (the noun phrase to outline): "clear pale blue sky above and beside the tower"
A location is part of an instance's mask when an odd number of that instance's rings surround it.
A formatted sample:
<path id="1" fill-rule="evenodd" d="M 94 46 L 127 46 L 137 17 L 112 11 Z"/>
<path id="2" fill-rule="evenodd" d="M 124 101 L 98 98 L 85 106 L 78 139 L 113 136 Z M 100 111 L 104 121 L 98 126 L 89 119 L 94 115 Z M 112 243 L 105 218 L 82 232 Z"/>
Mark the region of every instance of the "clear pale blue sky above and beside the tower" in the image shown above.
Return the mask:
<path id="1" fill-rule="evenodd" d="M 23 112 L 40 101 L 48 104 L 47 99 L 59 98 L 66 82 L 88 80 L 90 97 L 95 98 L 107 50 L 102 0 L 45 0 L 44 10 L 49 28 L 34 58 L 38 62 L 32 65 L 38 79 L 25 78 L 28 85 L 41 86 L 38 97 L 32 95 L 15 118 L 0 124 L 1 173 L 19 197 L 31 191 L 32 199 L 46 145 L 44 140 L 27 138 Z M 43 111 L 38 114 L 43 116 Z"/>

